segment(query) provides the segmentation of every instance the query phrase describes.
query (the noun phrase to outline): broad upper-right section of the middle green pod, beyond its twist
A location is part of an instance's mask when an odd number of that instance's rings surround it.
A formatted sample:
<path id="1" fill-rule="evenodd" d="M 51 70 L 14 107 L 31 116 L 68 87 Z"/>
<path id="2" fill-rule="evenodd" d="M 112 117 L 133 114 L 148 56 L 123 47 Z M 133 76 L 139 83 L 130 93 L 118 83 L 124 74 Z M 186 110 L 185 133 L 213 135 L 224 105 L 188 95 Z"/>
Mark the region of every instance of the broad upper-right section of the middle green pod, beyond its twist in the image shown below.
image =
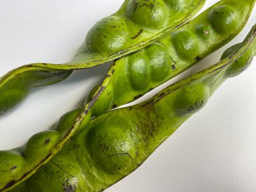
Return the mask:
<path id="1" fill-rule="evenodd" d="M 108 110 L 139 98 L 232 40 L 247 23 L 254 3 L 220 1 L 145 49 L 117 59 L 112 82 L 106 86 L 113 92 L 113 97 L 104 98 Z M 216 27 L 223 25 L 228 30 L 220 31 Z M 95 108 L 95 115 L 106 109 Z"/>

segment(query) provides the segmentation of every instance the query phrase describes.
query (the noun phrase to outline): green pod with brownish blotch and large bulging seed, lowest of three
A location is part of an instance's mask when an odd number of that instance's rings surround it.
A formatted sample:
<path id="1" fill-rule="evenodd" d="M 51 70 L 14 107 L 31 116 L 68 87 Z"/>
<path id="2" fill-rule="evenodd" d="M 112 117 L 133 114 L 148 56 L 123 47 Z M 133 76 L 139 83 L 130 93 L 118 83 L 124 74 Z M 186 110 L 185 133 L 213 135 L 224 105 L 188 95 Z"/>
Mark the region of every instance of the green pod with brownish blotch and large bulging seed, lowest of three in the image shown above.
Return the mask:
<path id="1" fill-rule="evenodd" d="M 92 119 L 48 164 L 11 191 L 103 191 L 138 168 L 205 105 L 218 86 L 247 69 L 255 55 L 256 25 L 216 65 L 172 84 L 146 102 Z"/>

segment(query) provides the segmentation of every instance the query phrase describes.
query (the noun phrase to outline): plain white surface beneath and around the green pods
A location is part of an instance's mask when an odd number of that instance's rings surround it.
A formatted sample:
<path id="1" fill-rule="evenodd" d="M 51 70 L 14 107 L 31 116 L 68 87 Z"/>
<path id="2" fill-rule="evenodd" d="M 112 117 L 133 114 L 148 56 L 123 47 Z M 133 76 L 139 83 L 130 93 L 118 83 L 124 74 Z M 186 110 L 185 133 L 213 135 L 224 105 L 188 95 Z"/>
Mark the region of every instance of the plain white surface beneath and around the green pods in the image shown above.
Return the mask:
<path id="1" fill-rule="evenodd" d="M 1 0 L 0 75 L 26 63 L 71 60 L 90 27 L 122 2 Z M 204 9 L 216 2 L 207 0 Z M 216 63 L 255 22 L 256 9 L 238 37 L 168 84 Z M 0 115 L 0 150 L 22 146 L 34 133 L 51 129 L 61 115 L 81 106 L 107 69 L 75 71 L 64 82 L 30 92 L 19 106 Z M 106 191 L 256 191 L 255 71 L 256 59 L 247 71 L 228 79 L 135 172 Z"/>

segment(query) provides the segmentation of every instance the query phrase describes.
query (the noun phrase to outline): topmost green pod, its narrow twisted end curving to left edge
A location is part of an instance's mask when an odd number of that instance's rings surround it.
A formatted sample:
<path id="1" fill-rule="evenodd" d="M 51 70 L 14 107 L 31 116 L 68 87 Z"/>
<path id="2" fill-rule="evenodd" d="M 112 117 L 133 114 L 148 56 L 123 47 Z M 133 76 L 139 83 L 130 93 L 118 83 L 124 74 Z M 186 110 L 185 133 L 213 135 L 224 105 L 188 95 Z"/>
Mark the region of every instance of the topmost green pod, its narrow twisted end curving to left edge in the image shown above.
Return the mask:
<path id="1" fill-rule="evenodd" d="M 61 82 L 74 69 L 113 61 L 170 34 L 189 22 L 204 3 L 205 0 L 126 0 L 117 13 L 92 27 L 73 61 L 61 65 L 32 63 L 3 75 L 0 113 L 21 102 L 32 88 Z"/>

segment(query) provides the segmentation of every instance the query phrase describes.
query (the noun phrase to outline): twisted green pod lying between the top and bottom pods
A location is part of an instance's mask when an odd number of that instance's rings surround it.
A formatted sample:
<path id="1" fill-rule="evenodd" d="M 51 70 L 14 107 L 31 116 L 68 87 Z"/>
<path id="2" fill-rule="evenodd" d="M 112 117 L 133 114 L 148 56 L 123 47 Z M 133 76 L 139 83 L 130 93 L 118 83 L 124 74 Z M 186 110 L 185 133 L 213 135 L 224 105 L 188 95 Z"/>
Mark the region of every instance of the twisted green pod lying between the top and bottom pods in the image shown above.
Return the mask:
<path id="1" fill-rule="evenodd" d="M 238 32 L 241 31 L 247 22 L 255 1 L 251 1 L 251 3 L 248 4 L 243 3 L 244 9 L 237 9 L 234 7 L 234 5 L 236 5 L 234 1 L 232 1 L 232 3 L 230 2 L 231 1 L 221 1 L 220 3 L 217 3 L 195 18 L 195 20 L 190 24 L 183 26 L 170 36 L 148 46 L 146 49 L 143 49 L 138 53 L 134 53 L 124 57 L 123 59 L 115 61 L 115 63 L 110 67 L 102 85 L 99 86 L 98 90 L 96 89 L 96 92 L 92 93 L 92 98 L 94 99 L 88 99 L 90 102 L 84 106 L 84 110 L 82 110 L 82 112 L 77 112 L 76 118 L 71 118 L 68 123 L 61 125 L 64 128 L 55 131 L 44 131 L 34 135 L 28 141 L 26 146 L 22 148 L 22 154 L 19 152 L 9 154 L 11 153 L 9 151 L 0 152 L 0 162 L 1 158 L 5 158 L 5 156 L 10 156 L 11 158 L 12 155 L 14 156 L 13 158 L 20 158 L 22 161 L 22 164 L 20 165 L 22 168 L 17 168 L 15 171 L 11 172 L 5 171 L 7 170 L 5 165 L 7 160 L 3 161 L 5 164 L 0 164 L 0 170 L 3 172 L 3 179 L 0 181 L 0 186 L 2 188 L 0 189 L 4 189 L 6 186 L 9 188 L 18 185 L 18 183 L 30 177 L 30 175 L 36 172 L 40 166 L 48 162 L 53 156 L 55 156 L 55 154 L 57 154 L 57 152 L 59 152 L 59 150 L 61 150 L 61 148 L 63 148 L 63 145 L 69 140 L 71 135 L 77 131 L 77 129 L 85 127 L 91 117 L 101 115 L 110 108 L 125 104 L 126 102 L 134 100 L 141 94 L 145 94 L 151 88 L 166 82 L 166 80 L 174 77 L 174 75 L 181 73 L 181 71 L 184 71 L 191 65 L 197 63 L 197 61 L 199 61 L 197 57 L 203 58 L 212 51 L 218 49 L 222 44 L 231 40 Z M 237 1 L 237 3 L 237 7 L 240 7 L 241 2 Z M 238 24 L 238 22 L 234 20 L 233 22 L 230 22 L 229 32 L 216 32 L 208 18 L 216 10 L 236 13 L 238 16 L 234 18 L 240 18 L 239 22 L 241 23 Z M 225 23 L 226 18 L 219 20 L 219 22 L 220 24 Z M 201 30 L 202 28 L 203 30 Z M 205 34 L 206 31 L 207 34 Z M 190 46 L 193 49 L 195 48 L 194 44 L 201 47 L 201 49 L 199 49 L 200 51 L 198 51 L 198 49 L 193 51 L 189 50 L 191 55 L 187 59 L 182 56 L 182 59 L 179 57 L 179 53 L 181 51 L 179 48 L 176 48 L 177 43 L 175 44 L 177 41 L 175 39 L 179 38 L 179 34 L 183 36 L 184 32 L 186 32 L 186 34 L 189 33 L 193 35 L 193 43 L 190 43 Z M 189 38 L 189 40 L 190 39 L 191 38 Z M 154 57 L 150 58 L 148 55 Z M 137 59 L 138 56 L 142 59 Z M 174 59 L 170 59 L 170 56 Z M 141 62 L 137 62 L 141 60 L 143 60 L 143 63 L 145 64 L 144 68 L 150 68 L 150 74 L 141 73 L 139 70 L 137 70 L 139 72 L 131 70 L 133 69 L 131 66 L 137 65 L 137 63 L 139 63 L 140 66 L 143 66 L 141 65 Z M 172 68 L 172 65 L 175 66 L 175 69 Z M 167 72 L 163 73 L 166 69 Z M 140 81 L 145 83 L 146 80 L 143 78 L 148 76 L 150 76 L 150 81 L 149 84 L 146 84 L 146 87 L 141 88 L 141 85 L 136 85 L 136 83 Z M 125 88 L 125 90 L 122 90 L 121 88 Z M 83 126 L 81 126 L 81 124 L 83 124 Z M 49 142 L 49 140 L 51 142 Z M 42 146 L 40 142 L 47 143 L 47 148 Z M 11 165 L 7 164 L 7 166 Z M 10 168 L 12 168 L 12 166 Z"/>

